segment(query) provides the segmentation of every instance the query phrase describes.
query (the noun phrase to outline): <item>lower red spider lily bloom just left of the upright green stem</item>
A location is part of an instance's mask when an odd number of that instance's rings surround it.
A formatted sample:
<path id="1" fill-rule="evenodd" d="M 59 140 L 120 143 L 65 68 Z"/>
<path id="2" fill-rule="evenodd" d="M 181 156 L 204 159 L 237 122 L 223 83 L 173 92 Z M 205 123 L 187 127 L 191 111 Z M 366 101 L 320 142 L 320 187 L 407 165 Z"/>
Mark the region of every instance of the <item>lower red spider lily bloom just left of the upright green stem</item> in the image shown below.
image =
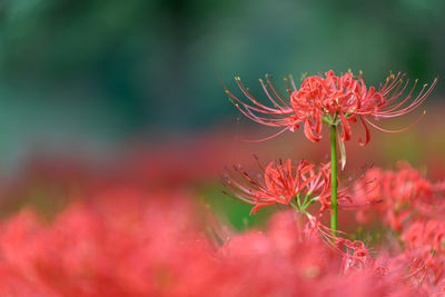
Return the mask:
<path id="1" fill-rule="evenodd" d="M 263 207 L 283 204 L 304 212 L 306 208 L 328 195 L 327 176 L 307 161 L 293 162 L 290 159 L 271 161 L 266 167 L 258 161 L 261 172 L 258 178 L 248 175 L 240 167 L 227 170 L 224 184 L 230 197 L 253 205 L 250 214 Z"/>

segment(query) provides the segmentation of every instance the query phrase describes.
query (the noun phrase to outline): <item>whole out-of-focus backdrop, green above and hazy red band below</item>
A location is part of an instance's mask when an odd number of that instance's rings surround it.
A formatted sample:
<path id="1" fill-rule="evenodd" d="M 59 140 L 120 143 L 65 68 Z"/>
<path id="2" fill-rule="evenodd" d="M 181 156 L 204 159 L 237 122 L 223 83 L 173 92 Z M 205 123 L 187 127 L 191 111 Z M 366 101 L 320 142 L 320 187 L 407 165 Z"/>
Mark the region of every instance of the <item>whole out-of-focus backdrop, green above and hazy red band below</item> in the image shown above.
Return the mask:
<path id="1" fill-rule="evenodd" d="M 273 130 L 239 117 L 218 76 L 235 89 L 239 75 L 260 93 L 265 73 L 279 81 L 350 68 L 370 85 L 389 70 L 422 82 L 439 77 L 427 116 L 409 132 L 373 130 L 367 148 L 348 143 L 350 170 L 405 159 L 444 178 L 435 170 L 445 164 L 444 12 L 441 0 L 2 0 L 0 172 L 59 185 L 67 168 L 77 170 L 71 181 L 90 167 L 125 168 L 150 187 L 179 180 L 241 226 L 253 219 L 248 207 L 217 186 L 225 164 L 253 164 L 253 152 L 318 161 L 327 150 L 299 131 L 268 143 L 234 140 Z"/>

